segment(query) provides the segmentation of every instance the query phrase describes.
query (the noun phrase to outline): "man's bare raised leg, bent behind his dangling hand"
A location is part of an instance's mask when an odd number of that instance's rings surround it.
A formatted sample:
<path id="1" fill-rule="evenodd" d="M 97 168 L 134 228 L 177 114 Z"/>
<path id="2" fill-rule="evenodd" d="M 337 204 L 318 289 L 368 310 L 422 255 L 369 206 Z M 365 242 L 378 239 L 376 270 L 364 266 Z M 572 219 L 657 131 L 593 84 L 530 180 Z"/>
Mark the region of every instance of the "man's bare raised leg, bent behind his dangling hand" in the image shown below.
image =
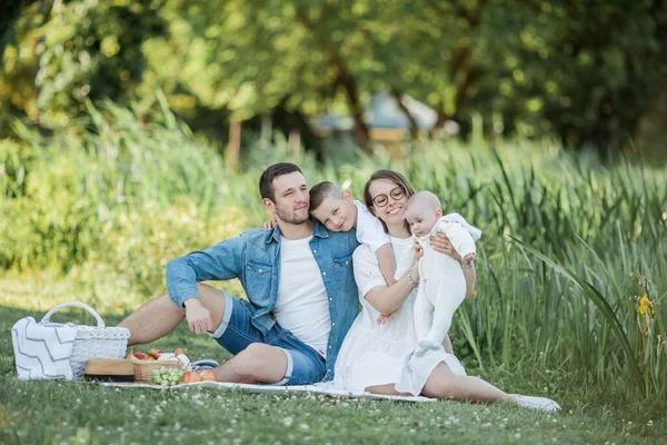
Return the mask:
<path id="1" fill-rule="evenodd" d="M 211 313 L 213 326 L 220 326 L 225 313 L 225 296 L 215 287 L 198 283 L 197 291 L 203 306 Z M 168 294 L 160 295 L 141 306 L 120 322 L 119 327 L 130 329 L 128 345 L 141 345 L 162 338 L 172 332 L 186 317 Z"/>

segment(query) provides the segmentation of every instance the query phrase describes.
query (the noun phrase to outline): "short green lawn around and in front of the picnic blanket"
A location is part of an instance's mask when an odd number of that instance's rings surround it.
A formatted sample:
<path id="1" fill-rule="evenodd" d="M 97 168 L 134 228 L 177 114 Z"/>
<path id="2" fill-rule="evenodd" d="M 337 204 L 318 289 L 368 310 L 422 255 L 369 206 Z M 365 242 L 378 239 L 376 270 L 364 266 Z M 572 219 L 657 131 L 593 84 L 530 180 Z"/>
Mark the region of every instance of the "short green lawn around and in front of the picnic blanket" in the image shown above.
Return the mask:
<path id="1" fill-rule="evenodd" d="M 242 390 L 118 389 L 82 382 L 19 382 L 9 330 L 21 317 L 40 318 L 72 295 L 64 283 L 43 287 L 32 279 L 0 279 L 0 443 L 663 443 L 665 412 L 658 404 L 591 399 L 587 388 L 563 382 L 561 414 L 507 405 L 451 400 L 411 404 L 309 394 Z M 71 299 L 71 297 L 69 297 Z M 109 300 L 113 300 L 110 298 Z M 103 305 L 102 305 L 103 306 Z M 39 309 L 33 309 L 38 307 Z M 118 310 L 100 308 L 109 324 Z M 56 318 L 58 319 L 58 318 Z M 62 320 L 91 323 L 68 314 Z M 195 357 L 228 357 L 212 340 L 185 326 L 156 343 L 185 346 Z M 148 347 L 146 347 L 148 349 Z M 471 374 L 476 370 L 471 369 Z M 488 369 L 482 377 L 510 392 L 536 394 L 516 372 Z"/>

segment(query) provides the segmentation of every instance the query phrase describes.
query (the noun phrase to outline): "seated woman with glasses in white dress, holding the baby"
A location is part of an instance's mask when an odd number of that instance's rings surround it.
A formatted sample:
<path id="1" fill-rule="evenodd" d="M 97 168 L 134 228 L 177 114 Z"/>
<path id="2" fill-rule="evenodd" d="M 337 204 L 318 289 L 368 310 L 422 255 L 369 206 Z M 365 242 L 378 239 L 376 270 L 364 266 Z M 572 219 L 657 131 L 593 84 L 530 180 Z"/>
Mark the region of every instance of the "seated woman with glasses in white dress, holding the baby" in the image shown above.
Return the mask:
<path id="1" fill-rule="evenodd" d="M 382 221 L 397 260 L 406 249 L 415 248 L 402 218 L 404 207 L 412 194 L 407 179 L 391 170 L 376 171 L 364 190 L 366 205 Z M 446 240 L 432 244 L 439 246 L 438 251 L 460 261 L 460 256 Z M 387 286 L 376 256 L 365 245 L 355 250 L 354 267 L 362 309 L 338 356 L 336 386 L 376 394 L 421 394 L 486 403 L 506 400 L 545 411 L 560 409 L 548 398 L 506 394 L 478 377 L 467 376 L 458 359 L 444 349 L 415 357 L 412 303 L 419 283 L 418 269 Z M 475 268 L 464 268 L 464 275 L 469 295 L 475 285 Z"/>

